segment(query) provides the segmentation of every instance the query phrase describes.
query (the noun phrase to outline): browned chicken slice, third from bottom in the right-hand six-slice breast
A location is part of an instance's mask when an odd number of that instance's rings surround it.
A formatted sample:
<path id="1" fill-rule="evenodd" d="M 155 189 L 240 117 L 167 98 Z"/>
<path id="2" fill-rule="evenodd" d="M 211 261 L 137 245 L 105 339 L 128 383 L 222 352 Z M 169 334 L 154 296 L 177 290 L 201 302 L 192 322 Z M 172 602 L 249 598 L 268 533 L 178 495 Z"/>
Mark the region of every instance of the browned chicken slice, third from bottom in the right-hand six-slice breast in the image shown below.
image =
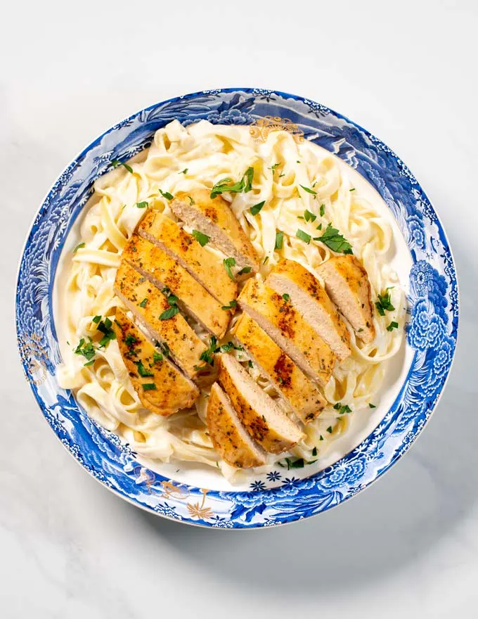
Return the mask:
<path id="1" fill-rule="evenodd" d="M 247 312 L 235 325 L 234 336 L 261 374 L 276 386 L 297 417 L 304 423 L 315 419 L 327 400 Z"/>

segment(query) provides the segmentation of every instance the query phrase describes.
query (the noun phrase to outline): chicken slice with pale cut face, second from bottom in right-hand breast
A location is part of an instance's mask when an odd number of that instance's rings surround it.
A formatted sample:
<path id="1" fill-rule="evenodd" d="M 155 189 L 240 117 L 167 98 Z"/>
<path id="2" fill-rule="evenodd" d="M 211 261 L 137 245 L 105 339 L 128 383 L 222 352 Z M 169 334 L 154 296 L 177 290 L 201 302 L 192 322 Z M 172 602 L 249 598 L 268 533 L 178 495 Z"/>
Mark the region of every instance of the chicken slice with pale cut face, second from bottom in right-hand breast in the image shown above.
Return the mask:
<path id="1" fill-rule="evenodd" d="M 303 438 L 299 427 L 232 355 L 219 355 L 219 383 L 247 432 L 266 452 L 280 454 Z"/>

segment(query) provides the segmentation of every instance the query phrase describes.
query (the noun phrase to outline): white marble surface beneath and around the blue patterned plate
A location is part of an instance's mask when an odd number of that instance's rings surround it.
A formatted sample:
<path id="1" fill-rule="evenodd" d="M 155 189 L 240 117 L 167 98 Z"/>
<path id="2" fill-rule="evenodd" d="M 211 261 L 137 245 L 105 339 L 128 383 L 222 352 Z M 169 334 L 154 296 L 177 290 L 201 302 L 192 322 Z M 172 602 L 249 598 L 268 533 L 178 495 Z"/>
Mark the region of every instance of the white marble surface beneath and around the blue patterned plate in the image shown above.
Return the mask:
<path id="1" fill-rule="evenodd" d="M 477 617 L 477 18 L 473 0 L 2 4 L 2 618 Z M 13 329 L 23 238 L 67 162 L 138 108 L 229 85 L 316 99 L 394 148 L 461 285 L 418 444 L 347 504 L 261 532 L 169 523 L 98 485 L 41 418 Z"/>

